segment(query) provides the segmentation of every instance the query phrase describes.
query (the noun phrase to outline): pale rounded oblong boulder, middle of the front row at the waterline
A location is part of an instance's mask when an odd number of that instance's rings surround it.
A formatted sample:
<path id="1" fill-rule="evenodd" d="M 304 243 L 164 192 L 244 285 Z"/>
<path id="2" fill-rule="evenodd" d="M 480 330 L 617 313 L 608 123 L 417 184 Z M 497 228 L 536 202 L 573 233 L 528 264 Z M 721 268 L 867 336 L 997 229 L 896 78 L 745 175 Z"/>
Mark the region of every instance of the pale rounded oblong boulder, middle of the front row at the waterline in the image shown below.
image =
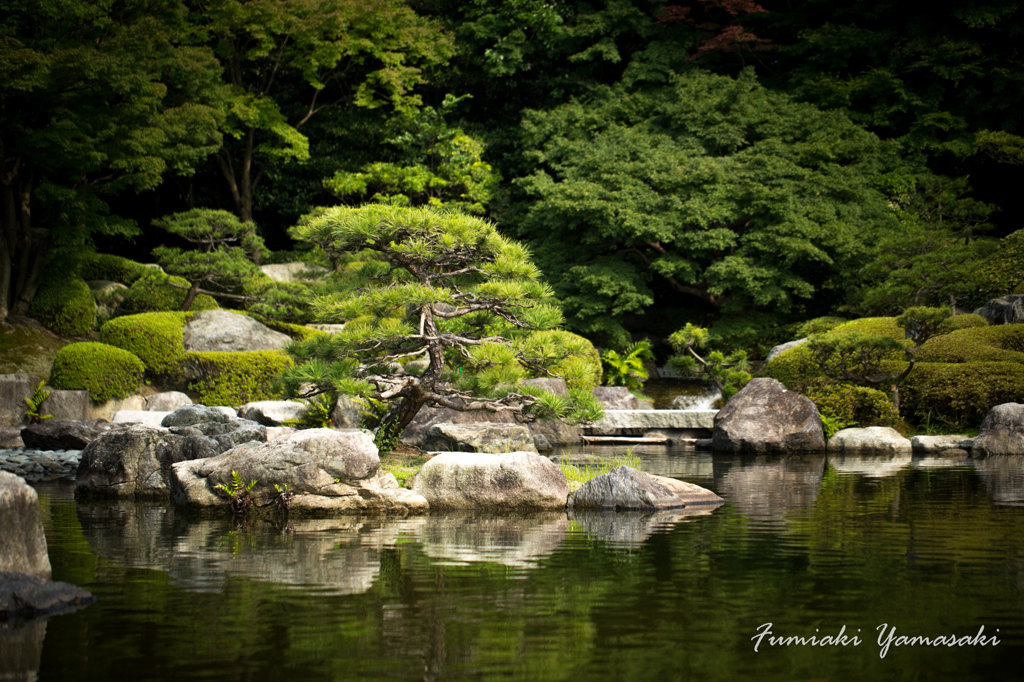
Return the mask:
<path id="1" fill-rule="evenodd" d="M 431 509 L 562 509 L 569 494 L 565 474 L 536 453 L 444 453 L 429 460 L 413 491 Z"/>

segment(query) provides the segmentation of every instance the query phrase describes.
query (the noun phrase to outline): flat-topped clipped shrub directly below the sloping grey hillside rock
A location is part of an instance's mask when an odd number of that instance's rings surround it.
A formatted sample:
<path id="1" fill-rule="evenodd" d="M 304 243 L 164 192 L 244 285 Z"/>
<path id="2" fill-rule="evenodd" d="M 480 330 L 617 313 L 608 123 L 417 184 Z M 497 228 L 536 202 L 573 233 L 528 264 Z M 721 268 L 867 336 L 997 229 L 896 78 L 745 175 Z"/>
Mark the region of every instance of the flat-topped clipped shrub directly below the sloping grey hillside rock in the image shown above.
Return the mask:
<path id="1" fill-rule="evenodd" d="M 272 390 L 292 359 L 280 350 L 188 352 L 184 359 L 191 379 L 188 389 L 203 404 L 239 406 L 278 397 Z"/>

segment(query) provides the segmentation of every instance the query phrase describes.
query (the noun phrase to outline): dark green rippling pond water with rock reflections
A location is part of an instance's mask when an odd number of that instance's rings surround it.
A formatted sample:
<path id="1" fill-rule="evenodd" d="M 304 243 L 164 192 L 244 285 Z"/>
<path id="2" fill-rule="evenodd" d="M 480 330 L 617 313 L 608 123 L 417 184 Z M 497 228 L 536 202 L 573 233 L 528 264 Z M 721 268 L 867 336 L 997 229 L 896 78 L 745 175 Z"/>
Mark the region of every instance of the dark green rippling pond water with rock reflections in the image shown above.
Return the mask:
<path id="1" fill-rule="evenodd" d="M 41 483 L 54 579 L 98 601 L 37 629 L 38 677 L 1019 676 L 1024 459 L 637 454 L 648 471 L 727 503 L 691 516 L 240 527 L 161 505 L 76 504 L 70 483 Z M 768 623 L 776 637 L 842 633 L 845 645 L 772 645 L 766 636 L 755 651 L 752 638 Z M 896 637 L 972 641 L 895 640 L 883 656 L 883 626 L 885 637 L 895 628 Z"/>

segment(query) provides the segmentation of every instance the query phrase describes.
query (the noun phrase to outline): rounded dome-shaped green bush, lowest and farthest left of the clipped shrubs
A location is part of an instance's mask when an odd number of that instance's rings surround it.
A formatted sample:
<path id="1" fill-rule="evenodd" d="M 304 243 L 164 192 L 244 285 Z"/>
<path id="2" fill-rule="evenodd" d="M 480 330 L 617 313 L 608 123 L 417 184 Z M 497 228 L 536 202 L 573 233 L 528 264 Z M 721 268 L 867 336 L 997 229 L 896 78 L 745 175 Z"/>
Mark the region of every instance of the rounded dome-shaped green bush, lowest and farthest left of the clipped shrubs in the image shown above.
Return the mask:
<path id="1" fill-rule="evenodd" d="M 105 343 L 72 343 L 57 351 L 50 369 L 54 388 L 88 390 L 93 402 L 127 397 L 142 381 L 145 367 L 134 354 Z"/>

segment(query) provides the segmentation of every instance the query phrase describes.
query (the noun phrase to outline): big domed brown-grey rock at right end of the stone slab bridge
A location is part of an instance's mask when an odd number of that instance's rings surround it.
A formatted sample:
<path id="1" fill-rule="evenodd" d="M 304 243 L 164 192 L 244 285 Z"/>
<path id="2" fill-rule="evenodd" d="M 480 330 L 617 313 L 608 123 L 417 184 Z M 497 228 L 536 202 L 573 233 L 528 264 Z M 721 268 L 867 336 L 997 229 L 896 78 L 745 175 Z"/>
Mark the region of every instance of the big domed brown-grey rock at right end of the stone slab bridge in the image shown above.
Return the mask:
<path id="1" fill-rule="evenodd" d="M 715 416 L 712 449 L 727 453 L 819 452 L 818 409 L 775 379 L 752 380 Z"/>

